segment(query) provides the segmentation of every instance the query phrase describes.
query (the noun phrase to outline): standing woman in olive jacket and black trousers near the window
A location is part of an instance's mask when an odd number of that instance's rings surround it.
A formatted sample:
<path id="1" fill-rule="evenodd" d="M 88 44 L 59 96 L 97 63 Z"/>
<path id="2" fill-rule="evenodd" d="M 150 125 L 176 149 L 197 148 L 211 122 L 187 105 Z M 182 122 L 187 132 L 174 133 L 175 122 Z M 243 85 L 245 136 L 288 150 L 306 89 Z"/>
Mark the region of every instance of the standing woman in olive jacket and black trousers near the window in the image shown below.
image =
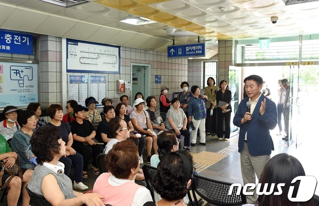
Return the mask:
<path id="1" fill-rule="evenodd" d="M 215 86 L 215 79 L 213 77 L 208 77 L 207 85 L 205 87 L 205 94 L 208 97 L 208 102 L 206 102 L 206 136 L 216 136 L 217 131 L 217 104 L 216 104 L 216 92 L 219 90 L 218 86 Z M 213 110 L 213 115 L 211 115 L 211 110 Z"/>

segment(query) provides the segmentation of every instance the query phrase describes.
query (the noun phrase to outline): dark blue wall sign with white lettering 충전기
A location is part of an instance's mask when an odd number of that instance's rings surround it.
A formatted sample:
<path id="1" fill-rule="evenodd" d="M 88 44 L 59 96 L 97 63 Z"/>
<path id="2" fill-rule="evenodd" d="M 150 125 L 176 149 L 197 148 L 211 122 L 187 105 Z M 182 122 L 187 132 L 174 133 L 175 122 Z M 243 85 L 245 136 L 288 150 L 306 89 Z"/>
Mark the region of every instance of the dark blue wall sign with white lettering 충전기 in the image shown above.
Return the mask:
<path id="1" fill-rule="evenodd" d="M 0 30 L 0 52 L 33 55 L 33 37 Z"/>

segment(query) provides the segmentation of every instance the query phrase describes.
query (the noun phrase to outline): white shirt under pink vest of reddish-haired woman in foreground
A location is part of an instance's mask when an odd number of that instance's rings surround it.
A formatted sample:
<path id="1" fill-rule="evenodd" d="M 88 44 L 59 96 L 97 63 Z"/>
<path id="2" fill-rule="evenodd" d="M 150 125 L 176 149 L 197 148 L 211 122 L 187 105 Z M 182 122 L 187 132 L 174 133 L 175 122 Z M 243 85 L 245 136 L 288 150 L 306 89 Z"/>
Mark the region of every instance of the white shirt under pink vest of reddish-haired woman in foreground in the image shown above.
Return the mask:
<path id="1" fill-rule="evenodd" d="M 98 181 L 99 177 L 96 179 L 96 181 Z M 118 179 L 112 174 L 108 178 L 108 184 L 115 187 L 120 186 L 129 181 L 133 181 L 133 180 Z M 152 202 L 152 201 L 153 199 L 152 199 L 150 191 L 145 187 L 140 187 L 136 190 L 131 206 L 140 206 L 140 205 L 144 205 L 145 202 Z"/>

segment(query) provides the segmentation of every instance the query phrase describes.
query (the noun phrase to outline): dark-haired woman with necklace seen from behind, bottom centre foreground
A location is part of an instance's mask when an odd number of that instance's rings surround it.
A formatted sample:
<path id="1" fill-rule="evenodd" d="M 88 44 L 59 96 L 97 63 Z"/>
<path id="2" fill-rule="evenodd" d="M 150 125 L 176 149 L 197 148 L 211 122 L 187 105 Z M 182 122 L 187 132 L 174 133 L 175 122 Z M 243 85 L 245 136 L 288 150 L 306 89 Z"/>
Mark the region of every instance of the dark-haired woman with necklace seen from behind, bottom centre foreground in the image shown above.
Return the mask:
<path id="1" fill-rule="evenodd" d="M 186 206 L 182 200 L 192 183 L 193 168 L 192 156 L 187 151 L 169 152 L 163 156 L 152 181 L 162 199 L 146 202 L 144 206 Z"/>

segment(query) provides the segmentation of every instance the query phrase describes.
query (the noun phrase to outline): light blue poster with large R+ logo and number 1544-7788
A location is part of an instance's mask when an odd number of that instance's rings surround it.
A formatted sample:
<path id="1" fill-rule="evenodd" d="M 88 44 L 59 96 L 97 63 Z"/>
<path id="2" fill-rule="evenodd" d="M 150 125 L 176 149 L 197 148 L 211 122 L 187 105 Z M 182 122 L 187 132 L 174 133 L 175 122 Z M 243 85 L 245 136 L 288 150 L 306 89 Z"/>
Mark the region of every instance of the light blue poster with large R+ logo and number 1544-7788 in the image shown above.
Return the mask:
<path id="1" fill-rule="evenodd" d="M 0 62 L 0 107 L 38 101 L 38 65 Z"/>

